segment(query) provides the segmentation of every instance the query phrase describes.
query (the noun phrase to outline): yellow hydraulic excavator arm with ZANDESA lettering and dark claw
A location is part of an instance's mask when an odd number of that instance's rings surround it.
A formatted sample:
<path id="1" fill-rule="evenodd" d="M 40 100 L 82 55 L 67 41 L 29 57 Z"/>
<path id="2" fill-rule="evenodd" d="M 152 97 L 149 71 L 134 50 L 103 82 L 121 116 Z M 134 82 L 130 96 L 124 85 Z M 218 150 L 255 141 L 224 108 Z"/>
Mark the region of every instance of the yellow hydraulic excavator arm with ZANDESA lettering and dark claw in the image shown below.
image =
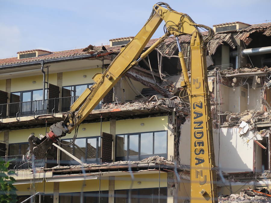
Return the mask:
<path id="1" fill-rule="evenodd" d="M 165 21 L 165 34 L 160 37 L 143 54 L 145 45 L 162 21 Z M 208 30 L 203 39 L 198 27 Z M 191 39 L 191 83 L 189 82 L 184 57 L 178 36 L 192 35 Z M 75 130 L 89 115 L 101 99 L 110 91 L 120 78 L 140 60 L 154 50 L 168 37 L 176 38 L 179 59 L 182 66 L 184 82 L 191 102 L 191 202 L 216 202 L 216 176 L 214 173 L 214 152 L 212 128 L 210 123 L 210 101 L 207 85 L 207 69 L 205 47 L 213 37 L 213 30 L 207 26 L 196 24 L 187 14 L 174 11 L 166 3 L 154 5 L 151 16 L 139 33 L 129 42 L 120 54 L 112 61 L 107 70 L 93 76 L 95 84 L 87 88 L 73 103 L 64 121 L 51 125 L 50 131 L 42 140 L 30 135 L 30 152 L 37 158 L 44 158 L 52 143 Z M 141 54 L 141 55 L 140 55 Z M 140 57 L 139 57 L 140 56 Z M 74 142 L 74 141 L 73 141 Z M 69 143 L 71 146 L 73 142 Z M 67 145 L 63 144 L 62 145 Z"/>

